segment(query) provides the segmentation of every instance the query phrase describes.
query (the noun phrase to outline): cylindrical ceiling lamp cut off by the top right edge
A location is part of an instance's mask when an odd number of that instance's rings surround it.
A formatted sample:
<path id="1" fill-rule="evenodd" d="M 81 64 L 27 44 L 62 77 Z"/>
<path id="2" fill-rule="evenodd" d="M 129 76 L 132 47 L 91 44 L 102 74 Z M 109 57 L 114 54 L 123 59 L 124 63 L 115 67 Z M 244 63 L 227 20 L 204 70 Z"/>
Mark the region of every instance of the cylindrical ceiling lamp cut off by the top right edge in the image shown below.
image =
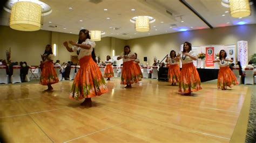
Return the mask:
<path id="1" fill-rule="evenodd" d="M 249 0 L 230 0 L 230 14 L 234 18 L 250 16 Z"/>

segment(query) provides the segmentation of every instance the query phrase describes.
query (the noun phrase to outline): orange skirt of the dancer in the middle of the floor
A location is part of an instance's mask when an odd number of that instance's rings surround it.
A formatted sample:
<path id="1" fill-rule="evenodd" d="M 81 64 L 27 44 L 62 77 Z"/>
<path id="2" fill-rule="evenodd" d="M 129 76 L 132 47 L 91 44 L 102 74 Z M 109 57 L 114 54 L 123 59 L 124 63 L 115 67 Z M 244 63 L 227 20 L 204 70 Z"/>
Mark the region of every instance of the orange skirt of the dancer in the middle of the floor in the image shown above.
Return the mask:
<path id="1" fill-rule="evenodd" d="M 137 72 L 137 68 L 133 61 L 123 62 L 123 69 L 121 74 L 121 84 L 138 83 L 142 78 Z"/>

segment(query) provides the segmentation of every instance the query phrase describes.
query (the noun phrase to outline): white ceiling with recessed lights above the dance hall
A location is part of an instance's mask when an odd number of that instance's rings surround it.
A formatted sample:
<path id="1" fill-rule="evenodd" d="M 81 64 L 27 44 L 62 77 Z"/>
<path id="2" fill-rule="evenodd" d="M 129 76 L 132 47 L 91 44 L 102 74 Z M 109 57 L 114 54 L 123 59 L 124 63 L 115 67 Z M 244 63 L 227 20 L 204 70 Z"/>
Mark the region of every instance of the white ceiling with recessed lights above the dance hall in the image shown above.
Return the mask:
<path id="1" fill-rule="evenodd" d="M 78 34 L 84 27 L 88 30 L 104 31 L 106 34 L 103 37 L 133 39 L 179 32 L 180 28 L 188 30 L 209 28 L 179 0 L 42 0 L 42 2 L 52 8 L 50 15 L 42 17 L 42 30 L 48 31 Z M 247 24 L 256 23 L 252 6 L 251 16 L 238 19 L 225 13 L 229 8 L 222 6 L 221 0 L 186 0 L 186 2 L 213 27 L 238 25 L 240 21 Z M 70 7 L 72 10 L 69 9 Z M 130 22 L 130 19 L 135 16 L 151 16 L 156 19 L 156 22 L 151 24 L 149 32 L 137 32 L 134 24 Z M 9 25 L 9 17 L 10 13 L 4 12 L 0 24 Z M 110 19 L 106 19 L 107 17 Z M 181 23 L 182 20 L 183 23 Z M 177 26 L 171 27 L 171 25 Z M 114 30 L 115 27 L 119 29 Z"/>

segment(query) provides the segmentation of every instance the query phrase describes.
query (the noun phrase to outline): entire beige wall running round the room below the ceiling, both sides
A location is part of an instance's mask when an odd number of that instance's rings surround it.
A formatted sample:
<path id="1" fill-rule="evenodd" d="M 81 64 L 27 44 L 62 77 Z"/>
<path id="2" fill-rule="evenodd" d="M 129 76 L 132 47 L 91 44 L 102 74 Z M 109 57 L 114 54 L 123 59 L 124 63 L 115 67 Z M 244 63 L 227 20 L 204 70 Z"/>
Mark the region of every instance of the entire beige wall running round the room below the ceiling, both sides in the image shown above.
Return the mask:
<path id="1" fill-rule="evenodd" d="M 229 26 L 206 30 L 194 30 L 156 35 L 145 38 L 123 40 L 113 37 L 102 38 L 96 42 L 96 55 L 105 61 L 106 55 L 112 56 L 114 49 L 116 55 L 123 52 L 125 45 L 130 45 L 133 52 L 138 53 L 138 58 L 143 61 L 143 57 L 152 65 L 154 56 L 161 60 L 171 49 L 179 51 L 180 45 L 184 41 L 189 41 L 194 46 L 201 45 L 229 45 L 236 44 L 237 41 L 248 41 L 249 59 L 256 53 L 256 24 Z M 29 65 L 39 65 L 40 54 L 43 54 L 46 44 L 57 45 L 57 55 L 55 60 L 61 62 L 70 61 L 70 55 L 63 46 L 67 40 L 77 41 L 78 35 L 59 33 L 51 31 L 23 32 L 12 30 L 8 26 L 0 26 L 0 59 L 6 59 L 5 50 L 11 47 L 11 59 L 13 61 L 26 61 Z"/>

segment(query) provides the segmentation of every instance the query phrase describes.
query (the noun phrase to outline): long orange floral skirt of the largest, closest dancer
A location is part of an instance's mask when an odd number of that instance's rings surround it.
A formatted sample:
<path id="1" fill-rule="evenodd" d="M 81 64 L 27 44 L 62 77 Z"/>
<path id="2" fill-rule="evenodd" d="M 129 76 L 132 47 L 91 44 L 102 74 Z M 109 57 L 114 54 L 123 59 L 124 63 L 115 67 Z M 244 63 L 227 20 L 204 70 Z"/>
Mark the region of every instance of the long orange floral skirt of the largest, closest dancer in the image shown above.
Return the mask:
<path id="1" fill-rule="evenodd" d="M 107 87 L 99 67 L 92 60 L 91 55 L 79 60 L 80 69 L 74 79 L 70 98 L 80 100 L 102 95 L 107 92 Z"/>

